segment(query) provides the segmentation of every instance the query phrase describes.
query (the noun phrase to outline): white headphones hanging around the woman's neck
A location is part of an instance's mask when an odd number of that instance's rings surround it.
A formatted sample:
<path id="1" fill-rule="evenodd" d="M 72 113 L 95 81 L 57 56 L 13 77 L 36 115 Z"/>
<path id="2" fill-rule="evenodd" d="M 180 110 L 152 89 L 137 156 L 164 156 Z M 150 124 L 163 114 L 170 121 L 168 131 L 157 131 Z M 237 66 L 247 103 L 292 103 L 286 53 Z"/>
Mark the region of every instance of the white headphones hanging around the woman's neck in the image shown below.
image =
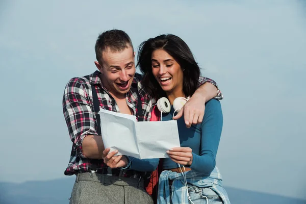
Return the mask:
<path id="1" fill-rule="evenodd" d="M 190 97 L 188 97 L 188 98 L 184 98 L 184 97 L 177 97 L 177 98 L 175 98 L 173 100 L 174 113 L 175 112 L 180 112 L 181 109 L 183 108 L 183 106 L 189 100 L 189 98 Z M 170 102 L 169 102 L 168 98 L 162 97 L 162 98 L 158 99 L 158 101 L 157 101 L 157 108 L 161 112 L 161 115 L 162 115 L 162 113 L 169 113 L 170 110 L 171 110 L 171 105 L 170 105 Z M 174 116 L 174 113 L 173 113 L 173 116 Z M 162 119 L 162 117 L 161 117 L 161 119 Z"/>

